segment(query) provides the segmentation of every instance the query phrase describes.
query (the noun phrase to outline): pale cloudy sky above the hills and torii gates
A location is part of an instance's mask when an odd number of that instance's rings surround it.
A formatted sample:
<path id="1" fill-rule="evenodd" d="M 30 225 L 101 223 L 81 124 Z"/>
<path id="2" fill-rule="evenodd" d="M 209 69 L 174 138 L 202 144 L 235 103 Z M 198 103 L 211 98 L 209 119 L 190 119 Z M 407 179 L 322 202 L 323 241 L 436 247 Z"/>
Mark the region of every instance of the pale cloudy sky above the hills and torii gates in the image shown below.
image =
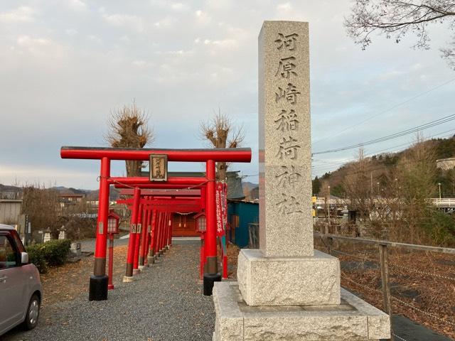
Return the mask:
<path id="1" fill-rule="evenodd" d="M 400 44 L 373 37 L 362 51 L 343 29 L 350 6 L 348 0 L 2 0 L 0 183 L 97 188 L 98 162 L 61 160 L 60 146 L 107 146 L 109 112 L 133 100 L 149 112 L 156 148 L 203 148 L 199 122 L 218 109 L 230 114 L 244 127 L 254 161 L 232 170 L 256 182 L 257 35 L 264 20 L 310 23 L 314 152 L 454 114 L 455 72 L 438 50 L 450 38 L 446 27 L 430 28 L 431 50 L 410 49 L 414 37 Z M 423 132 L 439 137 L 454 129 L 450 122 Z M 395 151 L 412 138 L 365 152 Z M 314 175 L 354 153 L 314 156 Z M 115 163 L 112 174 L 122 173 L 124 165 Z"/>

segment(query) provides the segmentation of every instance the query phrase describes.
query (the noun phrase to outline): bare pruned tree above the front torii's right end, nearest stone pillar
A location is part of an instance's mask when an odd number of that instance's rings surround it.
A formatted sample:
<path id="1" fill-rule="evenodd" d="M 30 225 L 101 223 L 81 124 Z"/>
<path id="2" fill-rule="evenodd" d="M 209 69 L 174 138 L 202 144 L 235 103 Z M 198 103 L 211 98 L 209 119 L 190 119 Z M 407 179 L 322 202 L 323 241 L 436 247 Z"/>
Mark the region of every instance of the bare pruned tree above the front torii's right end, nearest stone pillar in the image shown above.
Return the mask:
<path id="1" fill-rule="evenodd" d="M 242 127 L 235 126 L 228 114 L 222 114 L 220 110 L 209 121 L 200 122 L 200 134 L 213 148 L 238 148 L 245 139 Z M 217 180 L 226 179 L 228 166 L 225 162 L 216 163 Z"/>

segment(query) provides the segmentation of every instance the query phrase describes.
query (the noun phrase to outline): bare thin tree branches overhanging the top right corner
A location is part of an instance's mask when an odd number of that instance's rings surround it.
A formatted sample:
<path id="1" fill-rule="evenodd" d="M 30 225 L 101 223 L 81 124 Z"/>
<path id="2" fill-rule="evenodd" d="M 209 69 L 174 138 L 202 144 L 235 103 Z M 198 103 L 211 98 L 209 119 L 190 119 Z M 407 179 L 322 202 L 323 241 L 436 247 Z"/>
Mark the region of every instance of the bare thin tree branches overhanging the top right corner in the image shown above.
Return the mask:
<path id="1" fill-rule="evenodd" d="M 453 0 L 355 0 L 352 13 L 345 18 L 348 36 L 365 49 L 372 34 L 384 34 L 400 43 L 408 33 L 416 36 L 414 48 L 429 49 L 428 27 L 431 23 L 446 23 L 455 29 Z M 455 35 L 441 48 L 442 57 L 455 70 Z"/>

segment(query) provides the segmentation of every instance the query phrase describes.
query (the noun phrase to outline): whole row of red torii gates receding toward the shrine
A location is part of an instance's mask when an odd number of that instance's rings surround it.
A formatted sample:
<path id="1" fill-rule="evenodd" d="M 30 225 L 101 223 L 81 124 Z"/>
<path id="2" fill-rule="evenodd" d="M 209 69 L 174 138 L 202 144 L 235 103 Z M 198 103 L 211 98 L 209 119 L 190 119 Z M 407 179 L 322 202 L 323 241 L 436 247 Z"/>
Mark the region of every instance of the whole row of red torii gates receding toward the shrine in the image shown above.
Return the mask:
<path id="1" fill-rule="evenodd" d="M 108 288 L 113 288 L 112 253 L 109 253 L 109 274 L 106 274 L 110 185 L 122 188 L 121 194 L 132 196 L 118 201 L 126 204 L 131 210 L 124 281 L 134 280 L 140 269 L 153 263 L 156 256 L 161 255 L 171 245 L 173 212 L 198 212 L 197 217 L 200 218 L 198 229 L 202 232 L 200 273 L 203 274 L 203 293 L 205 296 L 212 294 L 213 283 L 221 281 L 217 241 L 218 237 L 223 238 L 221 226 L 227 210 L 223 205 L 225 184 L 216 183 L 215 163 L 250 162 L 250 148 L 151 149 L 63 146 L 60 149 L 60 156 L 97 159 L 101 163 L 95 261 L 89 285 L 90 301 L 106 300 Z M 149 177 L 111 177 L 111 161 L 117 160 L 149 161 Z M 205 179 L 168 177 L 168 161 L 204 162 Z M 223 251 L 223 277 L 227 277 L 227 255 L 225 249 Z"/>

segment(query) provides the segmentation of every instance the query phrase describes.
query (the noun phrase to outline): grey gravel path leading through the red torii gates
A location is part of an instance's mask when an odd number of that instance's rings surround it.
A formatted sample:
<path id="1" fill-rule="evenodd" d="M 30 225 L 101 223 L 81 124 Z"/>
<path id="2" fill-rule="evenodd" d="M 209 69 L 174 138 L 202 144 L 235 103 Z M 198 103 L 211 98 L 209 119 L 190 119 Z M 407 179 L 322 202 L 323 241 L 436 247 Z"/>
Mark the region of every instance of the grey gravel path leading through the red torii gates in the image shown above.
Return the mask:
<path id="1" fill-rule="evenodd" d="M 15 328 L 0 340 L 212 340 L 213 299 L 202 295 L 198 257 L 197 244 L 174 244 L 137 281 L 114 278 L 107 301 L 85 295 L 49 305 L 35 330 Z"/>

